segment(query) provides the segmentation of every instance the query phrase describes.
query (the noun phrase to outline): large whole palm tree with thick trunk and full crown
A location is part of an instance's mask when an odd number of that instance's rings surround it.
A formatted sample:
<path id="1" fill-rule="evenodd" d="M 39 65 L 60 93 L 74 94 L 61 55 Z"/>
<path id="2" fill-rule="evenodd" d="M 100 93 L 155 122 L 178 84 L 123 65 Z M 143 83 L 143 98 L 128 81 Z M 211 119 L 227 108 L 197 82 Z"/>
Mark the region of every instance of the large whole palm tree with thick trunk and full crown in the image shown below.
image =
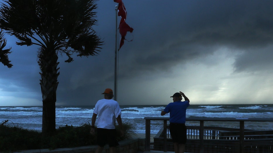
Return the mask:
<path id="1" fill-rule="evenodd" d="M 95 34 L 96 0 L 5 0 L 0 28 L 18 38 L 17 45 L 37 45 L 43 115 L 42 133 L 55 131 L 58 55 L 97 55 L 103 41 Z"/>

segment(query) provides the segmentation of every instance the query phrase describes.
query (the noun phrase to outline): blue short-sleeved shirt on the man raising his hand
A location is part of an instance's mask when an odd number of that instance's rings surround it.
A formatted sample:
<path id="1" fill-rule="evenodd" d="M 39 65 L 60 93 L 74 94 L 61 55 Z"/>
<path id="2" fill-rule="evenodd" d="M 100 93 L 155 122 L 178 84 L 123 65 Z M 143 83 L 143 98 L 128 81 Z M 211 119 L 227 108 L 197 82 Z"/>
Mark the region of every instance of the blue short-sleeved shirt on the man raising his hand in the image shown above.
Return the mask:
<path id="1" fill-rule="evenodd" d="M 176 101 L 169 103 L 163 110 L 170 113 L 170 123 L 186 123 L 186 109 L 190 106 L 189 101 Z"/>

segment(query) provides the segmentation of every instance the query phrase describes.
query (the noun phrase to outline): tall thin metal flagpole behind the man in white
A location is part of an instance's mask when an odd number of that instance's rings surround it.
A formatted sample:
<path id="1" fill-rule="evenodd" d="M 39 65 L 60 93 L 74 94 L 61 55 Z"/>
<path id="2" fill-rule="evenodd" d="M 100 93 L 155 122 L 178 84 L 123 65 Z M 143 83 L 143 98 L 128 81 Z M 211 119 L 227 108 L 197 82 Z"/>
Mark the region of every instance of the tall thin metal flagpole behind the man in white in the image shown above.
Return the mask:
<path id="1" fill-rule="evenodd" d="M 115 77 L 114 77 L 114 100 L 117 101 L 117 5 L 116 9 L 116 40 L 115 40 Z"/>

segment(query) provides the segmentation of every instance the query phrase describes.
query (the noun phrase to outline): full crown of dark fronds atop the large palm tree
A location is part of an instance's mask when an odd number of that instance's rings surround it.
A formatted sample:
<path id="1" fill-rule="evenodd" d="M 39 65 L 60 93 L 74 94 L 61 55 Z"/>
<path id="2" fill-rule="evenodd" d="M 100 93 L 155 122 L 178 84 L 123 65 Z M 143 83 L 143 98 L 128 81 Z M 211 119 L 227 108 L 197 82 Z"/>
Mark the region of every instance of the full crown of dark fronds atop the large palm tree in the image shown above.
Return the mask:
<path id="1" fill-rule="evenodd" d="M 9 0 L 1 3 L 0 28 L 18 38 L 17 45 L 54 48 L 71 56 L 97 55 L 103 41 L 92 26 L 97 0 Z M 68 53 L 68 54 L 67 54 Z"/>

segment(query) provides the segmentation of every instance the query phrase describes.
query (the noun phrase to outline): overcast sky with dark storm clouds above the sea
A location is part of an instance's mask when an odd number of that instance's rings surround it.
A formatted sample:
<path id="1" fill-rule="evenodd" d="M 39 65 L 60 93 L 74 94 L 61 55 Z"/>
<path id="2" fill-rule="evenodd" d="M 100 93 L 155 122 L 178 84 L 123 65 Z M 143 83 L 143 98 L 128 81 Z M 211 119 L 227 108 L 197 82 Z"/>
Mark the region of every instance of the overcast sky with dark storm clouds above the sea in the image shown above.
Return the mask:
<path id="1" fill-rule="evenodd" d="M 120 105 L 165 105 L 179 91 L 192 105 L 273 103 L 272 0 L 123 3 L 134 31 L 118 53 Z M 59 56 L 56 105 L 95 105 L 105 88 L 114 89 L 117 3 L 97 4 L 103 49 L 72 63 Z M 42 105 L 37 46 L 6 37 L 13 67 L 0 64 L 0 106 Z"/>

